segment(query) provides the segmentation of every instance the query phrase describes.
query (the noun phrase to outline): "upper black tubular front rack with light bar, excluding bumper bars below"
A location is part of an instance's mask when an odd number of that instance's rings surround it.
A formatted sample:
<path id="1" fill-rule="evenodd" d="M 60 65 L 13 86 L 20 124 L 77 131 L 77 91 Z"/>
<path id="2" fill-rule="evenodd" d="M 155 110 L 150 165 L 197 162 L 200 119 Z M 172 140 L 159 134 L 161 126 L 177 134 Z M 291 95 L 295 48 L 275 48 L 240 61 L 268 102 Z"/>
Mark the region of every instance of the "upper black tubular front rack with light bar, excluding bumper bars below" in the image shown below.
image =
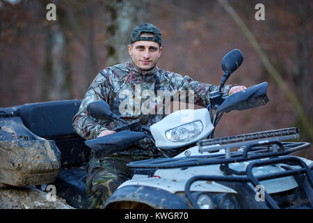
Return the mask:
<path id="1" fill-rule="evenodd" d="M 158 158 L 130 162 L 127 167 L 142 169 L 170 169 L 181 167 L 195 167 L 202 165 L 224 164 L 232 162 L 244 162 L 259 160 L 266 157 L 279 157 L 289 155 L 310 147 L 307 142 L 282 142 L 282 140 L 298 139 L 298 128 L 286 128 L 266 132 L 254 132 L 232 137 L 205 139 L 198 142 L 200 153 L 209 152 L 205 155 L 190 157 Z M 231 148 L 239 148 L 238 151 L 230 152 Z M 211 152 L 225 150 L 224 154 Z"/>

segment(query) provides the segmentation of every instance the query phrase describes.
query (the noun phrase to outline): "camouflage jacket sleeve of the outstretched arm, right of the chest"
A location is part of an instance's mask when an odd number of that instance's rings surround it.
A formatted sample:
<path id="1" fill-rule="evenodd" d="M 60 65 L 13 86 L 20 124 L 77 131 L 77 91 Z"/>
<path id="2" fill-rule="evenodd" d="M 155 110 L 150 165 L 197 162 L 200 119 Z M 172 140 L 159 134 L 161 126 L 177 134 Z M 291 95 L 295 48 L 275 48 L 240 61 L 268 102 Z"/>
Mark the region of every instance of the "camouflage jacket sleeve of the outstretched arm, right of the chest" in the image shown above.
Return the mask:
<path id="1" fill-rule="evenodd" d="M 167 72 L 166 76 L 170 82 L 170 91 L 180 92 L 182 90 L 186 90 L 186 99 L 184 101 L 188 102 L 188 90 L 191 90 L 191 92 L 194 94 L 194 104 L 203 107 L 207 107 L 207 105 L 210 103 L 209 93 L 212 91 L 218 91 L 219 88 L 219 86 L 214 84 L 203 84 L 202 82 L 193 80 L 188 75 L 183 77 L 182 75 L 179 75 L 175 72 Z M 227 94 L 232 86 L 235 86 L 235 84 L 228 84 L 223 86 L 222 93 Z M 179 93 L 179 97 L 180 95 L 182 94 Z M 182 97 L 179 99 L 182 100 Z"/>

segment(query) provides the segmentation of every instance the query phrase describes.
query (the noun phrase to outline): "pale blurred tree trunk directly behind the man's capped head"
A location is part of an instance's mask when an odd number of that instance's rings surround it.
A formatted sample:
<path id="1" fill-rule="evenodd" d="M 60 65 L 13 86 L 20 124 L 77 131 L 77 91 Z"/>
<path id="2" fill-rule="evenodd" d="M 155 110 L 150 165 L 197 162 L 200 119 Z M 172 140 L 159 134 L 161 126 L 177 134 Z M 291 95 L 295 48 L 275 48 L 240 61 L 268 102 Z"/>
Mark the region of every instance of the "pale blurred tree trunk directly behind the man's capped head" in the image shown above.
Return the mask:
<path id="1" fill-rule="evenodd" d="M 147 0 L 104 1 L 107 66 L 129 61 L 127 45 L 131 31 L 147 22 Z"/>

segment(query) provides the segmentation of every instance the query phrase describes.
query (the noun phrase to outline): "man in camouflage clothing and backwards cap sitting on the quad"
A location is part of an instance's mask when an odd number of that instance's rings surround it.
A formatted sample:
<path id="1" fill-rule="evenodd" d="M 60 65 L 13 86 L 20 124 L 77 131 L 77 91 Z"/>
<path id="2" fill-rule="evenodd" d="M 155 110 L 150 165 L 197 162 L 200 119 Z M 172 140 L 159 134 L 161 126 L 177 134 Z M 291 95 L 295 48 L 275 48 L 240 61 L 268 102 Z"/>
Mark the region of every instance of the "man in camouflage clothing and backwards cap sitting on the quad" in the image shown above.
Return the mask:
<path id="1" fill-rule="evenodd" d="M 121 125 L 110 118 L 96 119 L 88 116 L 87 105 L 90 102 L 104 100 L 109 103 L 113 113 L 120 115 L 125 121 L 138 118 L 141 125 L 150 126 L 160 121 L 166 114 L 143 114 L 135 111 L 122 112 L 122 102 L 127 100 L 128 105 L 141 108 L 141 92 L 170 91 L 179 92 L 191 90 L 194 92 L 196 105 L 206 107 L 209 104 L 209 92 L 216 91 L 218 86 L 196 82 L 188 76 L 182 77 L 175 72 L 157 68 L 161 56 L 161 32 L 150 23 L 136 26 L 131 33 L 128 46 L 131 62 L 118 64 L 102 70 L 90 84 L 90 87 L 81 102 L 79 112 L 73 118 L 73 126 L 84 139 L 95 139 L 115 133 L 114 128 Z M 225 85 L 223 93 L 236 93 L 246 89 L 245 86 Z M 135 97 L 125 97 L 128 91 Z M 127 95 L 126 95 L 127 96 Z M 130 101 L 129 101 L 130 100 Z M 159 106 L 160 104 L 158 104 Z M 161 103 L 163 105 L 163 103 Z M 150 108 L 150 111 L 154 106 Z M 130 111 L 130 112 L 129 112 Z M 87 192 L 90 195 L 88 208 L 102 208 L 112 192 L 131 177 L 131 171 L 126 167 L 127 162 L 154 157 L 156 150 L 148 139 L 138 141 L 127 151 L 116 152 L 107 157 L 90 155 L 87 176 Z"/>

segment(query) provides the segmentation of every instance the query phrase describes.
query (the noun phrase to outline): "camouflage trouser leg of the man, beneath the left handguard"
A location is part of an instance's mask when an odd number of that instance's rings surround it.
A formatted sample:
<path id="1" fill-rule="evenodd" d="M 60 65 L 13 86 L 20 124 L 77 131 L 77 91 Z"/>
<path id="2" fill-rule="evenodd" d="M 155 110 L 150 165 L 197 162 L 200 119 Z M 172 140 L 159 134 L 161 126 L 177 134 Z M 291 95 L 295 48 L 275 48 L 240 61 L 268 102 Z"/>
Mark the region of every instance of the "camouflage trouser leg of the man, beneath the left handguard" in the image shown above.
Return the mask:
<path id="1" fill-rule="evenodd" d="M 126 167 L 128 160 L 122 157 L 90 157 L 86 189 L 89 194 L 88 208 L 103 208 L 104 202 L 127 178 L 131 171 Z M 130 160 L 129 160 L 130 161 Z"/>

